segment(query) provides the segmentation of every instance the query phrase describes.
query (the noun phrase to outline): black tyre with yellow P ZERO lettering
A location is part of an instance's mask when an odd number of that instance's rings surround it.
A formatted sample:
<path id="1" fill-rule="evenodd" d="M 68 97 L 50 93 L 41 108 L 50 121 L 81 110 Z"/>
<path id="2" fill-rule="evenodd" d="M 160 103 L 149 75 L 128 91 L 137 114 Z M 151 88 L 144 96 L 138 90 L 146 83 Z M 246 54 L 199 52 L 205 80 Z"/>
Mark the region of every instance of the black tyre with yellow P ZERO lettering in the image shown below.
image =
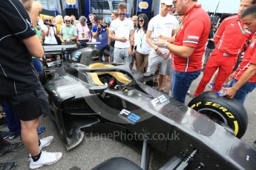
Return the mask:
<path id="1" fill-rule="evenodd" d="M 209 116 L 220 125 L 226 123 L 238 138 L 243 137 L 246 132 L 247 112 L 235 99 L 221 97 L 216 92 L 204 92 L 192 99 L 188 106 Z"/>

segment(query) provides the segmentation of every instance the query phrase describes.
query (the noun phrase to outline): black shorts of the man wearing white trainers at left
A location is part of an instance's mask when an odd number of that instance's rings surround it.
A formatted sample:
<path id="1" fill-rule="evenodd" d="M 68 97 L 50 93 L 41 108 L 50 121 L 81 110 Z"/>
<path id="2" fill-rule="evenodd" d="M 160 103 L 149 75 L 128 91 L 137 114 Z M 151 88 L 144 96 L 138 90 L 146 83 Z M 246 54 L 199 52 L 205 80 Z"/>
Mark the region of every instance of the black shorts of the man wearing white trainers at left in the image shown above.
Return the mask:
<path id="1" fill-rule="evenodd" d="M 19 118 L 24 121 L 34 120 L 50 112 L 47 93 L 42 86 L 36 89 L 35 92 L 1 97 L 10 104 Z"/>

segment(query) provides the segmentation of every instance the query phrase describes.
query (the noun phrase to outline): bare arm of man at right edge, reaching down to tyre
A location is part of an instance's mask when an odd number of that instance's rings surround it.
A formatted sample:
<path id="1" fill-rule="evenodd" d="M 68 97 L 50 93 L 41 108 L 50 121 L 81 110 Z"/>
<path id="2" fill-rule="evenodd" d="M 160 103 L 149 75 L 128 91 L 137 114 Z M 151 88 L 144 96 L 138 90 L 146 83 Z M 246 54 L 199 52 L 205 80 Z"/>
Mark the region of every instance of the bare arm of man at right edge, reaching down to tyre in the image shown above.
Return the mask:
<path id="1" fill-rule="evenodd" d="M 234 95 L 237 93 L 238 89 L 240 89 L 241 86 L 243 86 L 243 84 L 246 84 L 246 82 L 248 82 L 249 79 L 252 78 L 252 76 L 255 74 L 256 74 L 256 64 L 250 64 L 249 68 L 246 70 L 246 72 L 243 73 L 239 81 L 237 81 L 237 83 L 234 84 L 234 86 L 230 88 L 226 88 L 226 97 L 234 98 Z"/>

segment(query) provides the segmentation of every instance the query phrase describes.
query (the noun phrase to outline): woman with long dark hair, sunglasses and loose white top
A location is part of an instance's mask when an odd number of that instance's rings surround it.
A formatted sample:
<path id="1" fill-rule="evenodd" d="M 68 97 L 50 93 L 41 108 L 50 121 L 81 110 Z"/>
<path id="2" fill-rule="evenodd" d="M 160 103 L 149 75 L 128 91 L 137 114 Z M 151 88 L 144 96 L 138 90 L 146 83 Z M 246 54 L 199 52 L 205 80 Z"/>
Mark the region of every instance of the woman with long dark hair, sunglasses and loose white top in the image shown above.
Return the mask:
<path id="1" fill-rule="evenodd" d="M 145 41 L 145 34 L 148 30 L 148 16 L 141 13 L 138 16 L 138 28 L 134 33 L 134 47 L 136 47 L 136 68 L 137 71 L 145 72 L 148 68 L 148 55 L 151 47 Z"/>

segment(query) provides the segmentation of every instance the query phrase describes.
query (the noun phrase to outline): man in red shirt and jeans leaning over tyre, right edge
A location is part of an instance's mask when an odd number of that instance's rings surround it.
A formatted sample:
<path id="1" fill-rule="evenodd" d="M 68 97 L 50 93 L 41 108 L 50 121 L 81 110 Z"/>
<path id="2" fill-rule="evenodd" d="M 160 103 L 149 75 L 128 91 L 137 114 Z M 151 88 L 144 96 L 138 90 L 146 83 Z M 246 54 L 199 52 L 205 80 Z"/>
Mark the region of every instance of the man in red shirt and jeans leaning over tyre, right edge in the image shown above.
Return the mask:
<path id="1" fill-rule="evenodd" d="M 243 61 L 229 83 L 230 88 L 226 89 L 226 97 L 235 98 L 244 103 L 246 95 L 256 87 L 256 5 L 245 10 L 241 19 L 245 27 L 254 34 L 243 56 Z"/>

